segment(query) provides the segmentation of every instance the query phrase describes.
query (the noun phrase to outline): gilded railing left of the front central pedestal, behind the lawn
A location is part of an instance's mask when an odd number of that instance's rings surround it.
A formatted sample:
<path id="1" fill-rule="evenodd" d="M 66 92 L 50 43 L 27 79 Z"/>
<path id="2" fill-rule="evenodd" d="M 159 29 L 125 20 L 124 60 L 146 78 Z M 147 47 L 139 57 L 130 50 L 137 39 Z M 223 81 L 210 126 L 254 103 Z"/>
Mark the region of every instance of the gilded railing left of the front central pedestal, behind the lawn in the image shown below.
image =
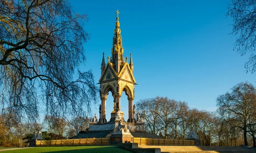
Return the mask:
<path id="1" fill-rule="evenodd" d="M 108 138 L 37 140 L 36 146 L 109 145 Z"/>

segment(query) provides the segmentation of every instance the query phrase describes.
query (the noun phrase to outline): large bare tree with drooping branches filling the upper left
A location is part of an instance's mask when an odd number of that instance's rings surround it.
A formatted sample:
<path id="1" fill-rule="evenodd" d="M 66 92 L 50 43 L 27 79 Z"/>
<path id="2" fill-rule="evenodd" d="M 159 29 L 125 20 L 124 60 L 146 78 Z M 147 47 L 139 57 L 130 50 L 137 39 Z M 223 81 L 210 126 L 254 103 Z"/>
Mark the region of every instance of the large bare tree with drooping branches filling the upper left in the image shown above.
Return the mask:
<path id="1" fill-rule="evenodd" d="M 40 101 L 54 116 L 90 112 L 98 89 L 91 70 L 78 70 L 90 36 L 84 21 L 67 0 L 0 0 L 1 106 L 29 120 Z"/>

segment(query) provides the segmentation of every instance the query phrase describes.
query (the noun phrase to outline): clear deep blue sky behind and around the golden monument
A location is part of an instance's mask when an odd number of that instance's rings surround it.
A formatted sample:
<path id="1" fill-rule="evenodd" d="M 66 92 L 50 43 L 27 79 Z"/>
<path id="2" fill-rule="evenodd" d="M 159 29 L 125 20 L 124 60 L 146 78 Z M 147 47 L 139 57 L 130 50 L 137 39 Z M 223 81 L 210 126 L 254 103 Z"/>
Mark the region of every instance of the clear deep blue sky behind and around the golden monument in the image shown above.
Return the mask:
<path id="1" fill-rule="evenodd" d="M 124 57 L 132 53 L 135 86 L 133 103 L 156 96 L 185 101 L 190 108 L 215 111 L 216 98 L 239 82 L 255 85 L 246 74 L 248 60 L 233 51 L 236 37 L 229 35 L 232 19 L 225 0 L 86 1 L 71 0 L 76 13 L 87 14 L 84 29 L 91 34 L 85 47 L 83 71 L 92 69 L 96 83 L 101 75 L 102 53 L 111 55 L 118 10 Z M 106 118 L 113 110 L 108 95 Z M 100 99 L 99 99 L 100 103 Z M 121 111 L 128 119 L 127 96 Z M 98 106 L 92 105 L 99 116 Z"/>

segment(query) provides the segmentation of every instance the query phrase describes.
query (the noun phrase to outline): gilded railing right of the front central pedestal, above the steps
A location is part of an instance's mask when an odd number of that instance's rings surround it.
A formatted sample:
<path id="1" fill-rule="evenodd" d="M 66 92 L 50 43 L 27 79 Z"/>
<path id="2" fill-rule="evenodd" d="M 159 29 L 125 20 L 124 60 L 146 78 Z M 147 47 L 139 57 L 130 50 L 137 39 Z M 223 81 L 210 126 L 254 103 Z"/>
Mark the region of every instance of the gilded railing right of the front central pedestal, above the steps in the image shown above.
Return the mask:
<path id="1" fill-rule="evenodd" d="M 174 139 L 154 139 L 154 138 L 134 138 L 134 143 L 138 145 L 172 145 L 172 146 L 195 146 L 194 140 L 174 140 Z"/>

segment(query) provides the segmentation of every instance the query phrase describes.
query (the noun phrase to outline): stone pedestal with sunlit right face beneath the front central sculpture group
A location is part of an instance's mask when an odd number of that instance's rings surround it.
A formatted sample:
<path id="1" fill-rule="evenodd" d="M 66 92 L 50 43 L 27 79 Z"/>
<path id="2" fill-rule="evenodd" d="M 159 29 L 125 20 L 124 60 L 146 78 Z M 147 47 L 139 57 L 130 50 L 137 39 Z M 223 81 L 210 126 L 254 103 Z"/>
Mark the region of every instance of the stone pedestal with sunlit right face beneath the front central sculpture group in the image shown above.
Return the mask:
<path id="1" fill-rule="evenodd" d="M 131 134 L 112 134 L 110 136 L 110 145 L 122 145 L 125 141 L 133 142 Z"/>

